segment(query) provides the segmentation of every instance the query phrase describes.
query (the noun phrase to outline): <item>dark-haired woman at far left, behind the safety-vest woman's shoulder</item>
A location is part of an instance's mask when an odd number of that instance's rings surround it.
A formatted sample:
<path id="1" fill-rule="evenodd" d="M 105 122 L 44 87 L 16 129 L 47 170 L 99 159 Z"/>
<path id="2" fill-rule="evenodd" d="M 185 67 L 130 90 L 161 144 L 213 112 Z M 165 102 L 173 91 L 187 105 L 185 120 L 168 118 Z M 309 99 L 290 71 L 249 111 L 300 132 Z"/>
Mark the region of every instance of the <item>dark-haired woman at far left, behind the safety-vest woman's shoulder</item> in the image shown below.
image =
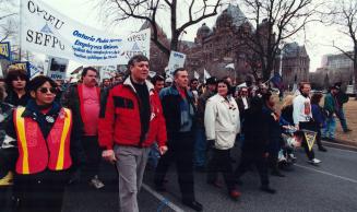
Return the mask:
<path id="1" fill-rule="evenodd" d="M 4 102 L 13 106 L 25 106 L 31 98 L 26 90 L 26 85 L 28 84 L 26 71 L 22 69 L 10 69 L 5 84 L 8 96 Z"/>

